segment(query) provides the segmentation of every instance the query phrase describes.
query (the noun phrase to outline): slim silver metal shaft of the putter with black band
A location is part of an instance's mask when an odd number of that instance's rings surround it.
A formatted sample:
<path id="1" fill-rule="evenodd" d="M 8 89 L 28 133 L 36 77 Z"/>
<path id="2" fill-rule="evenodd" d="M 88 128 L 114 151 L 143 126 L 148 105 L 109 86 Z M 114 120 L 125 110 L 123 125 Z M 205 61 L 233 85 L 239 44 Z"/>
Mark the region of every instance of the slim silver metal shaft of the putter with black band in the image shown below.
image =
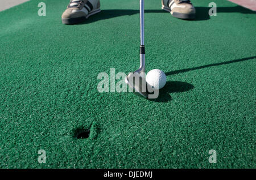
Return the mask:
<path id="1" fill-rule="evenodd" d="M 141 66 L 139 67 L 141 72 L 145 72 L 145 48 L 144 48 L 144 0 L 140 0 L 139 9 L 141 19 Z"/>

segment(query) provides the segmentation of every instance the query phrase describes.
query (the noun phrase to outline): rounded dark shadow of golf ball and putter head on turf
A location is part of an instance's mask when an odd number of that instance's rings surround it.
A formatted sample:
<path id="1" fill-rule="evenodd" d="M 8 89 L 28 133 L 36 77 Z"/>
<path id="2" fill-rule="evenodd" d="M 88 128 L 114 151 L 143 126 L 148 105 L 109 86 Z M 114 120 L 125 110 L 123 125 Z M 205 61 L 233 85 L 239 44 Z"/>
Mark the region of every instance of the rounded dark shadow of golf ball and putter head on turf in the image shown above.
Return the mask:
<path id="1" fill-rule="evenodd" d="M 150 99 L 150 101 L 154 102 L 167 102 L 171 101 L 172 97 L 170 93 L 175 92 L 185 92 L 193 89 L 194 86 L 185 82 L 166 82 L 166 85 L 163 89 L 159 90 L 159 96 L 156 99 Z"/>

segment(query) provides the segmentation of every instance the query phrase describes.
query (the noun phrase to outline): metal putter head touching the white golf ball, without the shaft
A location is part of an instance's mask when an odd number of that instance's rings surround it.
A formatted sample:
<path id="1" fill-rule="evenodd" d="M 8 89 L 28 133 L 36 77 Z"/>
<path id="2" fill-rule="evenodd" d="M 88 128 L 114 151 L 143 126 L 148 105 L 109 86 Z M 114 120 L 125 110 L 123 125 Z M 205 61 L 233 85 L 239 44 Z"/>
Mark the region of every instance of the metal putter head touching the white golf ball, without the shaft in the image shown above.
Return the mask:
<path id="1" fill-rule="evenodd" d="M 133 88 L 135 95 L 148 98 L 146 74 L 139 70 L 135 72 L 130 72 L 129 75 L 125 78 L 125 83 L 129 85 L 130 88 Z"/>

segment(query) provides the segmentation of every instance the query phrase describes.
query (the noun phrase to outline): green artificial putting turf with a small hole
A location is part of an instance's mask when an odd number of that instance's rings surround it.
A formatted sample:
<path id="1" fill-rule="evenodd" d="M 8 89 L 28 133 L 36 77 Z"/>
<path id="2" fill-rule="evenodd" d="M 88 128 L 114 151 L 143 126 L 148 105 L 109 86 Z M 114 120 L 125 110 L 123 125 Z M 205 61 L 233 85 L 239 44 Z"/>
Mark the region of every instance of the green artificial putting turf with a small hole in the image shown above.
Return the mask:
<path id="1" fill-rule="evenodd" d="M 147 0 L 146 68 L 168 81 L 148 101 L 97 91 L 98 73 L 138 68 L 139 1 L 102 0 L 79 25 L 61 23 L 68 0 L 44 17 L 39 2 L 0 12 L 0 168 L 256 167 L 255 12 L 215 0 L 210 17 L 195 0 L 188 21 Z"/>

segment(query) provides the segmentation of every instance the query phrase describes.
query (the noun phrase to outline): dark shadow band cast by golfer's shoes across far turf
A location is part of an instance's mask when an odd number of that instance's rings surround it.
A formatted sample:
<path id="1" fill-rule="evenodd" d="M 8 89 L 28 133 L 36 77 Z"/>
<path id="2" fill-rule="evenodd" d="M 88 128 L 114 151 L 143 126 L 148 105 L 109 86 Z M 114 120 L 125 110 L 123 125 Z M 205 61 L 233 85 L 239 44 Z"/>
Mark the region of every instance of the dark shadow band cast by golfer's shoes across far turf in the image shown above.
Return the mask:
<path id="1" fill-rule="evenodd" d="M 210 7 L 195 7 L 196 8 L 196 19 L 194 20 L 208 20 L 210 19 L 209 10 Z M 241 6 L 233 6 L 233 7 L 217 7 L 218 12 L 240 12 L 242 14 L 255 14 L 254 11 L 251 11 L 247 8 Z M 168 13 L 164 10 L 145 10 L 145 13 Z M 93 15 L 88 20 L 80 24 L 89 24 L 93 22 L 97 22 L 98 20 L 116 18 L 118 16 L 129 16 L 139 14 L 139 10 L 102 10 L 100 13 Z"/>

